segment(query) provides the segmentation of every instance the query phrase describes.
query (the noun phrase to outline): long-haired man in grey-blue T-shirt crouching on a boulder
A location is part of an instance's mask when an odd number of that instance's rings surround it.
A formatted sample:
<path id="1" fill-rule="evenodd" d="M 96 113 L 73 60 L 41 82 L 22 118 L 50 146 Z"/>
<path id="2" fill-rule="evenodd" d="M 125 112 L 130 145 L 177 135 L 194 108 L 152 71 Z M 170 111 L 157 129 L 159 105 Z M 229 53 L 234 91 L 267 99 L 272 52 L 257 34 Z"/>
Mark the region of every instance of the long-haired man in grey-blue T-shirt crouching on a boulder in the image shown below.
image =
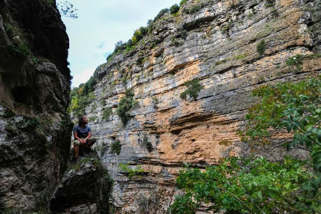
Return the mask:
<path id="1" fill-rule="evenodd" d="M 90 147 L 97 141 L 97 138 L 91 138 L 91 128 L 87 124 L 86 116 L 81 116 L 78 125 L 74 127 L 74 162 L 77 162 L 80 146 L 84 146 L 84 149 L 89 151 Z"/>

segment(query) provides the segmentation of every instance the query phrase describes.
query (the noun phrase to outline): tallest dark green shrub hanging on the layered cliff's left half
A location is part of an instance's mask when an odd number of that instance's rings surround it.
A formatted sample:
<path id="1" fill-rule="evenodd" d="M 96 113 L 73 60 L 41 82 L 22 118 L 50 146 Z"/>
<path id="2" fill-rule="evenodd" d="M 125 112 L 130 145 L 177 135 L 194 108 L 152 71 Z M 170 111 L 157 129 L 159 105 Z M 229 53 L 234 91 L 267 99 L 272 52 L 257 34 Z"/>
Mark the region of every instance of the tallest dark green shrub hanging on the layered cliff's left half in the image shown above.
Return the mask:
<path id="1" fill-rule="evenodd" d="M 132 89 L 126 89 L 125 97 L 120 99 L 118 107 L 116 108 L 116 113 L 124 126 L 129 119 L 129 111 L 136 106 L 136 102 L 133 97 L 134 91 Z"/>

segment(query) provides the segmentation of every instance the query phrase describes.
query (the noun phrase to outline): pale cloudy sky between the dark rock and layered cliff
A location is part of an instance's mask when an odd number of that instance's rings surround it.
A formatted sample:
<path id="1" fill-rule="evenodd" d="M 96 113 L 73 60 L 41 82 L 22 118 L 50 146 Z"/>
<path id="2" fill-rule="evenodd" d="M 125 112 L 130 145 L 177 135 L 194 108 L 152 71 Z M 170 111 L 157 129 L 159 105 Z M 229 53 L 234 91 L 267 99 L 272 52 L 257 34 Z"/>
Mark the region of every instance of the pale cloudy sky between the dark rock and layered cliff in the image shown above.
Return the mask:
<path id="1" fill-rule="evenodd" d="M 62 0 L 57 0 L 62 2 Z M 69 0 L 78 19 L 62 17 L 69 36 L 72 87 L 85 83 L 96 67 L 106 62 L 119 40 L 128 41 L 134 30 L 146 26 L 163 8 L 180 0 Z"/>

